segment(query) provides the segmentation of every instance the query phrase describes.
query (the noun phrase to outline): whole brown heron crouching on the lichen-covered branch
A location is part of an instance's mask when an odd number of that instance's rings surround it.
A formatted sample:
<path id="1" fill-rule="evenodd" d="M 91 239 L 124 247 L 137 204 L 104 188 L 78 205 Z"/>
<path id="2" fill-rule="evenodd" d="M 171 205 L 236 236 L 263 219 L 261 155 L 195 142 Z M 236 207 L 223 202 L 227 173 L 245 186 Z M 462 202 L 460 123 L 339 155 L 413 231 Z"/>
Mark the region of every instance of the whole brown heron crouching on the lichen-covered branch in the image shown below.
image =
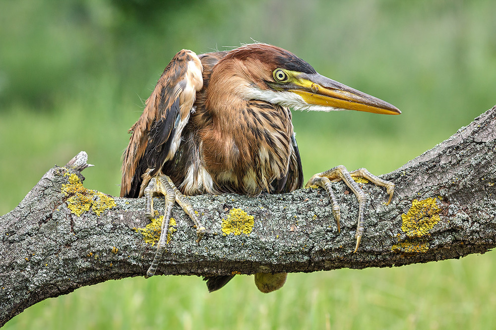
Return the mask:
<path id="1" fill-rule="evenodd" d="M 145 197 L 153 219 L 153 197 L 165 196 L 162 232 L 146 276 L 153 276 L 165 251 L 172 207 L 178 203 L 196 226 L 197 242 L 206 228 L 185 196 L 236 193 L 258 196 L 303 187 L 302 161 L 292 123 L 293 110 L 358 110 L 400 114 L 393 105 L 323 75 L 282 48 L 246 44 L 229 51 L 177 53 L 131 126 L 124 151 L 121 196 Z M 353 177 L 386 188 L 394 183 L 367 169 L 349 172 L 339 165 L 313 175 L 328 195 L 340 231 L 340 211 L 331 181 L 344 181 L 359 201 L 357 252 L 364 233 L 365 193 Z M 234 275 L 206 276 L 209 291 Z M 262 292 L 281 287 L 285 273 L 256 274 Z"/>

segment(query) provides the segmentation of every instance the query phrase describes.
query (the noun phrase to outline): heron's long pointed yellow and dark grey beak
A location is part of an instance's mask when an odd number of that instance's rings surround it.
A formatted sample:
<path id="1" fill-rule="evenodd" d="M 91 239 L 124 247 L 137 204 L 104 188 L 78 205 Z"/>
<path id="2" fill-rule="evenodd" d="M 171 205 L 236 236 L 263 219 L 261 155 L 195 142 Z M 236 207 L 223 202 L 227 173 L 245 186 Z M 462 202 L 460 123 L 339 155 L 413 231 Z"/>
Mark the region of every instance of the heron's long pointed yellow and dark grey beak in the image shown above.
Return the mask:
<path id="1" fill-rule="evenodd" d="M 381 114 L 400 114 L 395 106 L 324 77 L 318 73 L 301 73 L 288 90 L 312 105 L 358 110 Z"/>

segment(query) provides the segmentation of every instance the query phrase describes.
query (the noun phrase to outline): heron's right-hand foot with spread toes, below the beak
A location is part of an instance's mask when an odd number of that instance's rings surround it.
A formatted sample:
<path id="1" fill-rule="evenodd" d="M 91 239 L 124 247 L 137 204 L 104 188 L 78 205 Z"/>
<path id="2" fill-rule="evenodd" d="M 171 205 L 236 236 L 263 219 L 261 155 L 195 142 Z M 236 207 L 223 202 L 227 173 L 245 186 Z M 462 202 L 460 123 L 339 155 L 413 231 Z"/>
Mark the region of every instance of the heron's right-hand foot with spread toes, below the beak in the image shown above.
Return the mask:
<path id="1" fill-rule="evenodd" d="M 358 224 L 357 224 L 357 233 L 355 234 L 355 238 L 357 239 L 357 245 L 355 246 L 355 251 L 353 251 L 353 253 L 355 253 L 357 252 L 358 247 L 360 246 L 360 241 L 364 234 L 365 205 L 367 203 L 367 197 L 365 196 L 365 193 L 362 191 L 362 189 L 355 182 L 353 177 L 363 177 L 377 186 L 385 187 L 387 193 L 389 194 L 389 200 L 387 201 L 386 205 L 391 202 L 394 193 L 394 183 L 392 183 L 391 181 L 379 179 L 377 176 L 373 175 L 365 168 L 359 168 L 357 170 L 348 172 L 345 166 L 339 165 L 325 172 L 317 173 L 313 175 L 310 178 L 309 182 L 307 182 L 306 187 L 308 188 L 311 185 L 318 185 L 327 191 L 327 195 L 329 196 L 329 199 L 331 201 L 332 214 L 337 222 L 338 232 L 340 231 L 340 224 L 339 224 L 340 212 L 339 212 L 339 206 L 336 202 L 336 198 L 334 197 L 334 193 L 332 192 L 330 182 L 331 181 L 337 182 L 343 180 L 346 183 L 346 185 L 351 189 L 351 191 L 353 191 L 355 196 L 357 196 Z"/>

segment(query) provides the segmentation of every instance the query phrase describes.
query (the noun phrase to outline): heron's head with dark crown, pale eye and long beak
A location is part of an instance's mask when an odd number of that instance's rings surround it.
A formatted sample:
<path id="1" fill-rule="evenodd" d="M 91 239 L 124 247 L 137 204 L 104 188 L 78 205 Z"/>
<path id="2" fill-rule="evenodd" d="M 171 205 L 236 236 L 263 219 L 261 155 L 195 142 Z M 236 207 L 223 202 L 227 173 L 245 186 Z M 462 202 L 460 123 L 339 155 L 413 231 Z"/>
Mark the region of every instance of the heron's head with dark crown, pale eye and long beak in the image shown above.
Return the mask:
<path id="1" fill-rule="evenodd" d="M 309 63 L 279 47 L 246 45 L 230 51 L 219 64 L 223 74 L 237 78 L 236 92 L 244 99 L 295 110 L 401 113 L 387 102 L 318 74 Z"/>

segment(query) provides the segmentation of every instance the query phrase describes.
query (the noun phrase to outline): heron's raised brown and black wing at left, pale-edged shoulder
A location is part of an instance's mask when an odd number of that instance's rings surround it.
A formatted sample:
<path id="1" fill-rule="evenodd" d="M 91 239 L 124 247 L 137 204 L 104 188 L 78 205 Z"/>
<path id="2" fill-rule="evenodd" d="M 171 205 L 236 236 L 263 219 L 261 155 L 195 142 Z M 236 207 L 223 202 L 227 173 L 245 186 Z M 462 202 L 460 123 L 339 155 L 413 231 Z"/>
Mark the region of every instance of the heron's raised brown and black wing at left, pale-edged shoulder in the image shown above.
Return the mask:
<path id="1" fill-rule="evenodd" d="M 189 120 L 196 92 L 203 86 L 202 65 L 195 53 L 182 50 L 162 73 L 145 109 L 129 130 L 124 152 L 121 196 L 139 197 L 149 179 L 173 159 Z"/>

